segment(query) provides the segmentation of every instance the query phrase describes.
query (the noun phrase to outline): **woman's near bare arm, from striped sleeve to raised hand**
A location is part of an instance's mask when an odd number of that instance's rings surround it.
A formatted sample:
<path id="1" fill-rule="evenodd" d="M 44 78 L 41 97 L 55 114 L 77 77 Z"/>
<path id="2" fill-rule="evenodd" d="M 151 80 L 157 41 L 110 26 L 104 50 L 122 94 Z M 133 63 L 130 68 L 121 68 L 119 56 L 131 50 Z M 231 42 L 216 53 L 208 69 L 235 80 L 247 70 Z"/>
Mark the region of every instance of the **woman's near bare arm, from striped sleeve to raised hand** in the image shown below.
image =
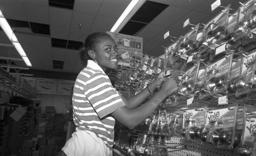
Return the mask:
<path id="1" fill-rule="evenodd" d="M 177 88 L 176 81 L 173 78 L 169 78 L 152 99 L 134 109 L 130 109 L 127 106 L 120 107 L 112 113 L 112 116 L 127 128 L 133 129 L 150 116 L 168 95 L 176 92 Z"/>

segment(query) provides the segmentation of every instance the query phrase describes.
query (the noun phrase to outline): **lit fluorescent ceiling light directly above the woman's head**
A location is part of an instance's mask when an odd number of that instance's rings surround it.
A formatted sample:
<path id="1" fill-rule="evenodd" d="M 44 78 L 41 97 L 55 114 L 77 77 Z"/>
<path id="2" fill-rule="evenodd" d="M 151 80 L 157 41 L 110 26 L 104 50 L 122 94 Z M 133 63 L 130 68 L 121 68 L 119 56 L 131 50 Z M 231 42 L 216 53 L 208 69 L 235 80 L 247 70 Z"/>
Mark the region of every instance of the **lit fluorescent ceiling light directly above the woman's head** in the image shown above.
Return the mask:
<path id="1" fill-rule="evenodd" d="M 110 32 L 118 33 L 128 20 L 136 13 L 136 11 L 144 4 L 145 0 L 132 0 L 126 7 L 121 16 L 117 19 L 115 25 L 111 28 Z"/>

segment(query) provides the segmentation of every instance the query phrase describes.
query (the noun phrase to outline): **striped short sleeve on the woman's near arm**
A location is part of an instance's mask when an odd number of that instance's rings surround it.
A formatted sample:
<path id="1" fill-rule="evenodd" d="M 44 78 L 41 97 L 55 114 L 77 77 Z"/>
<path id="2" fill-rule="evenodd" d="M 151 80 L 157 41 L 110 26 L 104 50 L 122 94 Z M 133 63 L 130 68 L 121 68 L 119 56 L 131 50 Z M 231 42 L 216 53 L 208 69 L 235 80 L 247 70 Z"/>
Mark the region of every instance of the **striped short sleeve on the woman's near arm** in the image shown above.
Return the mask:
<path id="1" fill-rule="evenodd" d="M 89 78 L 83 91 L 99 118 L 109 115 L 125 105 L 112 86 L 109 77 L 101 72 L 94 73 Z"/>

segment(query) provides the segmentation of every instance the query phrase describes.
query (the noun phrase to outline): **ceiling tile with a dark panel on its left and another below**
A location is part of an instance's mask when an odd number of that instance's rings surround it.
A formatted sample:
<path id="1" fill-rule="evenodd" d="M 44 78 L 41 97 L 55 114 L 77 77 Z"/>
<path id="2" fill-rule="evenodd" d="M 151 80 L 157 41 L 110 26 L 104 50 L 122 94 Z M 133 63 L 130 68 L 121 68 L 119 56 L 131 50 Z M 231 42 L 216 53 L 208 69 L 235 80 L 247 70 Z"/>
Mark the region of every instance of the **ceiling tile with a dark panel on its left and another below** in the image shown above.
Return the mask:
<path id="1" fill-rule="evenodd" d="M 69 27 L 62 27 L 58 25 L 50 25 L 50 32 L 52 38 L 68 39 Z"/>

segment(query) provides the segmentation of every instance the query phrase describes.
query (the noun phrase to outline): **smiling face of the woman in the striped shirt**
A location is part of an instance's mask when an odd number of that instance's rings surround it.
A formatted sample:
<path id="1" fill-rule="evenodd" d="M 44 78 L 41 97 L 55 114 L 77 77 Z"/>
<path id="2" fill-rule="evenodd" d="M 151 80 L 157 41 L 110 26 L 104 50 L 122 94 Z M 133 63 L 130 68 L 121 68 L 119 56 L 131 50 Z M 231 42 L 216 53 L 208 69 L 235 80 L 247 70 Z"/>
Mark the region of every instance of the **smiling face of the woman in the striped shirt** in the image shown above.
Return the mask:
<path id="1" fill-rule="evenodd" d="M 114 39 L 110 36 L 102 36 L 98 38 L 99 42 L 96 44 L 94 51 L 95 60 L 103 71 L 106 69 L 118 68 L 117 45 Z"/>

